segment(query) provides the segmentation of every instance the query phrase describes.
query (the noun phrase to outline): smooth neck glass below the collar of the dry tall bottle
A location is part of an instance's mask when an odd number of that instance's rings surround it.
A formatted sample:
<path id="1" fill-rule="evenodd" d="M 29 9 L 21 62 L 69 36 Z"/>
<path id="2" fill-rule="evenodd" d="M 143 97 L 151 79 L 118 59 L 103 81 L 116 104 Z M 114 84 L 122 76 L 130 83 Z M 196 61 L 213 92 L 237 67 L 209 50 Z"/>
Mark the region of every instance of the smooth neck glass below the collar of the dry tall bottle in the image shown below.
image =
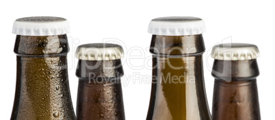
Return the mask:
<path id="1" fill-rule="evenodd" d="M 153 57 L 152 91 L 155 93 L 154 116 L 169 114 L 166 119 L 209 119 L 205 95 L 202 56 L 187 58 Z M 159 108 L 159 109 L 158 109 Z"/>

